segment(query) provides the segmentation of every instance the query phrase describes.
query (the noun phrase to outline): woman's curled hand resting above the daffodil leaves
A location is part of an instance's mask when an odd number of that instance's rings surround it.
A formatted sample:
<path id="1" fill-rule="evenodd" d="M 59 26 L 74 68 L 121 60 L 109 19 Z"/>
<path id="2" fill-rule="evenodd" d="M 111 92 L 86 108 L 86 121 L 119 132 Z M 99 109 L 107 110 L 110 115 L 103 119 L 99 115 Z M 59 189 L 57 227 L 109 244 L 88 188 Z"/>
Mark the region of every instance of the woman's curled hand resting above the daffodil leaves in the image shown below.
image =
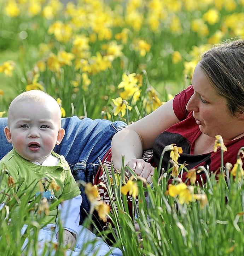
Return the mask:
<path id="1" fill-rule="evenodd" d="M 142 159 L 132 158 L 127 165 L 139 176 L 145 178 L 147 182 L 152 182 L 152 176 L 154 173 L 154 167 L 150 163 L 145 162 Z"/>

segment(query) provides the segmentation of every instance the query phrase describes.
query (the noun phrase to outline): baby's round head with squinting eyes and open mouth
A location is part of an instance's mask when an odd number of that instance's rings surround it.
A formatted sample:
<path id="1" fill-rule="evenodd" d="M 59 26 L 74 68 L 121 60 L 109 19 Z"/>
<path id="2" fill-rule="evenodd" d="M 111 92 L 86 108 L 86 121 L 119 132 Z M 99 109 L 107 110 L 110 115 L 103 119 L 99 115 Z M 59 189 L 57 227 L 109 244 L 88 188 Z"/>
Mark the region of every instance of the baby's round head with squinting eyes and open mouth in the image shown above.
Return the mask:
<path id="1" fill-rule="evenodd" d="M 65 133 L 57 101 L 40 90 L 18 95 L 9 106 L 4 132 L 19 155 L 42 164 Z"/>

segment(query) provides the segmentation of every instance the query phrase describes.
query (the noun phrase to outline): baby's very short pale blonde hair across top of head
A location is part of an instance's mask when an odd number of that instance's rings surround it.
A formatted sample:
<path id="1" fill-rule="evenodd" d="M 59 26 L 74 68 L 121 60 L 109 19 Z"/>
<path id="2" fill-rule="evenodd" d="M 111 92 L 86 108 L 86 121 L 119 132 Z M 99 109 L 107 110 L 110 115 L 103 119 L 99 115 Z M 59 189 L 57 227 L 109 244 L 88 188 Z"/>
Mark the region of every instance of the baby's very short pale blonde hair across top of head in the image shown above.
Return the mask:
<path id="1" fill-rule="evenodd" d="M 41 90 L 30 90 L 30 91 L 24 91 L 23 93 L 19 94 L 16 98 L 14 98 L 8 108 L 8 126 L 10 126 L 11 116 L 13 107 L 21 101 L 31 101 L 35 103 L 41 103 L 41 102 L 48 102 L 48 104 L 51 104 L 52 108 L 56 108 L 58 111 L 58 115 L 60 116 L 60 123 L 61 123 L 61 110 L 58 105 L 58 102 L 49 94 L 45 93 Z"/>

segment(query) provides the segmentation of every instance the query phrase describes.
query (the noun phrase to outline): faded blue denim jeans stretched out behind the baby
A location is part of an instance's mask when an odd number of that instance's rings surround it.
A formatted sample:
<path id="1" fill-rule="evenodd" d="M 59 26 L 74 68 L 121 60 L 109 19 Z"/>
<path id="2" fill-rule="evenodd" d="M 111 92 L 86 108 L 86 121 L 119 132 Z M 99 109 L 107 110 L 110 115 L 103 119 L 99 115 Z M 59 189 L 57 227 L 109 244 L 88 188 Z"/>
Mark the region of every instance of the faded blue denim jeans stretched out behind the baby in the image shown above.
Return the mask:
<path id="1" fill-rule="evenodd" d="M 7 118 L 0 118 L 0 159 L 12 149 L 12 144 L 7 142 L 4 135 L 5 126 Z M 102 160 L 111 148 L 114 134 L 126 126 L 122 121 L 112 123 L 105 119 L 81 120 L 76 116 L 62 118 L 65 136 L 60 145 L 55 146 L 54 151 L 65 157 L 75 180 L 93 183 L 99 167 L 99 158 Z M 82 222 L 86 216 L 85 211 L 89 212 L 90 204 L 85 190 L 82 187 L 80 189 L 83 198 L 80 211 Z"/>

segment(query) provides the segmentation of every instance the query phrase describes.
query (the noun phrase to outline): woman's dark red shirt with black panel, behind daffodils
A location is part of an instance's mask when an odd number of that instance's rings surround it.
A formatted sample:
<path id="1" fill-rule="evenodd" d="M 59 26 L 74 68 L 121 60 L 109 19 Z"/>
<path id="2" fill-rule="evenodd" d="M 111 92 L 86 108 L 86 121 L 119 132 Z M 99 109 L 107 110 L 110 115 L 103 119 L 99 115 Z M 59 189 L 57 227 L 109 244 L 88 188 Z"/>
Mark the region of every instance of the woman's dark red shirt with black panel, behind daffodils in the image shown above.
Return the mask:
<path id="1" fill-rule="evenodd" d="M 180 154 L 178 162 L 180 164 L 184 162 L 187 163 L 187 169 L 196 168 L 201 165 L 205 167 L 208 165 L 212 172 L 219 169 L 221 165 L 220 148 L 217 149 L 217 152 L 212 151 L 203 155 L 193 155 L 195 141 L 202 133 L 199 130 L 199 125 L 193 117 L 193 112 L 188 112 L 186 110 L 187 102 L 193 93 L 194 90 L 191 85 L 175 96 L 173 100 L 173 109 L 180 122 L 169 127 L 156 138 L 155 143 L 153 144 L 153 160 L 155 162 L 155 166 L 158 167 L 160 155 L 164 147 L 175 143 L 176 146 L 181 147 L 183 150 L 183 154 Z M 234 139 L 226 143 L 225 146 L 227 147 L 227 152 L 224 152 L 223 154 L 224 165 L 226 162 L 230 162 L 234 165 L 234 163 L 236 163 L 238 150 L 244 146 L 244 137 Z M 169 159 L 169 152 L 166 152 L 162 163 L 162 167 L 165 170 L 167 170 Z M 186 179 L 185 174 L 186 173 L 183 173 L 182 176 L 183 182 Z M 203 177 L 203 179 L 205 178 Z M 200 177 L 198 177 L 198 181 L 201 181 Z"/>

